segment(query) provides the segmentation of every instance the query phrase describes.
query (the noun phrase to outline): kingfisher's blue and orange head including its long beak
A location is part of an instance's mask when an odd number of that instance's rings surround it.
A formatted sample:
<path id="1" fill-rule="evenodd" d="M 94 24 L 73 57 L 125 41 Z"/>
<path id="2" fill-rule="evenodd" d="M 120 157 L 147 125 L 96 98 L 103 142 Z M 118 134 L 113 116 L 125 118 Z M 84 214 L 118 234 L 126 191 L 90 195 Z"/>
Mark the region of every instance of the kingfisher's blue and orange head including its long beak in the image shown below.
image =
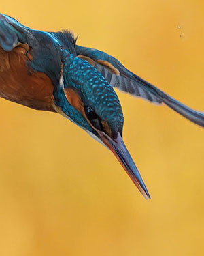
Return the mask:
<path id="1" fill-rule="evenodd" d="M 87 61 L 66 54 L 55 104 L 63 115 L 86 130 L 118 158 L 144 197 L 149 197 L 141 175 L 122 140 L 124 117 L 116 92 Z"/>

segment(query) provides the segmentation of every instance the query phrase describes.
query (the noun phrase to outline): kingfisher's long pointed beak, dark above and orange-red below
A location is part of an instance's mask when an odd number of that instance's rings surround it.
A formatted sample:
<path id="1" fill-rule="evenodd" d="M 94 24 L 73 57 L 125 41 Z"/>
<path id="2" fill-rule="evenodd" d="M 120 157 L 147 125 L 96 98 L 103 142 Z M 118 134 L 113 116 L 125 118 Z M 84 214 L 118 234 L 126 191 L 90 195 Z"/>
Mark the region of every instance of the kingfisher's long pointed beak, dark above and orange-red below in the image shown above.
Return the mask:
<path id="1" fill-rule="evenodd" d="M 150 199 L 150 194 L 144 184 L 139 171 L 133 162 L 133 158 L 131 157 L 129 151 L 127 150 L 126 146 L 124 145 L 124 141 L 120 133 L 118 133 L 118 137 L 116 139 L 107 138 L 101 136 L 101 140 L 109 149 L 114 153 L 126 173 L 131 177 L 131 180 L 134 182 L 135 186 L 139 189 L 143 197 L 146 199 Z"/>

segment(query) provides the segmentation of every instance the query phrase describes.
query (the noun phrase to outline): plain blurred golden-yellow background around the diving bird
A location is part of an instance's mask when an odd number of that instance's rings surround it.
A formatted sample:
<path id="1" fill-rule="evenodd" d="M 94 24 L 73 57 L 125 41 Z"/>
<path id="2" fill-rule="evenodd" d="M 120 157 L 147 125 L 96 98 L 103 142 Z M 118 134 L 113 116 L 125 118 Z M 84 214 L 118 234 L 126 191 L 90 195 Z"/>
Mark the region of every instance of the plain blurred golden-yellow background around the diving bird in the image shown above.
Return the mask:
<path id="1" fill-rule="evenodd" d="M 204 2 L 3 1 L 33 29 L 71 29 L 204 111 Z M 204 255 L 204 131 L 117 91 L 124 141 L 152 197 L 116 158 L 55 113 L 0 99 L 0 255 Z"/>

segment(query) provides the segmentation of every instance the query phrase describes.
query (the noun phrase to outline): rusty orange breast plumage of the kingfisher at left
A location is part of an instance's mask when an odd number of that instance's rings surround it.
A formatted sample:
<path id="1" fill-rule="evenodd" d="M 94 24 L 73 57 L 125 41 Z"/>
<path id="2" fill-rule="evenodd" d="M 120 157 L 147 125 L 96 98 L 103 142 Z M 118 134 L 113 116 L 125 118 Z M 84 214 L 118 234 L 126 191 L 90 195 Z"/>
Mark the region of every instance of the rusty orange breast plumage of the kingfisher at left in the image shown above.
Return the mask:
<path id="1" fill-rule="evenodd" d="M 54 111 L 53 85 L 48 76 L 27 66 L 29 50 L 21 44 L 11 52 L 0 48 L 0 97 L 33 109 Z"/>

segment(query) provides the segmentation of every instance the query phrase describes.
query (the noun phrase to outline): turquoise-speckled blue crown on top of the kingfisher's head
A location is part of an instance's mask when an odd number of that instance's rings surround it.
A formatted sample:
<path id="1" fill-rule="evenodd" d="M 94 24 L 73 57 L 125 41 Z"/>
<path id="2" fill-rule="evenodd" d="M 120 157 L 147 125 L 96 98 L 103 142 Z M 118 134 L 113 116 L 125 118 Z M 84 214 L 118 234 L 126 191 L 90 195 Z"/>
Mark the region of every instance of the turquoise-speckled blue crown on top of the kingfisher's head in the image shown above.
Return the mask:
<path id="1" fill-rule="evenodd" d="M 90 106 L 101 120 L 108 122 L 114 132 L 122 134 L 124 118 L 113 87 L 87 61 L 66 53 L 63 59 L 65 89 L 74 88 L 85 107 Z"/>

